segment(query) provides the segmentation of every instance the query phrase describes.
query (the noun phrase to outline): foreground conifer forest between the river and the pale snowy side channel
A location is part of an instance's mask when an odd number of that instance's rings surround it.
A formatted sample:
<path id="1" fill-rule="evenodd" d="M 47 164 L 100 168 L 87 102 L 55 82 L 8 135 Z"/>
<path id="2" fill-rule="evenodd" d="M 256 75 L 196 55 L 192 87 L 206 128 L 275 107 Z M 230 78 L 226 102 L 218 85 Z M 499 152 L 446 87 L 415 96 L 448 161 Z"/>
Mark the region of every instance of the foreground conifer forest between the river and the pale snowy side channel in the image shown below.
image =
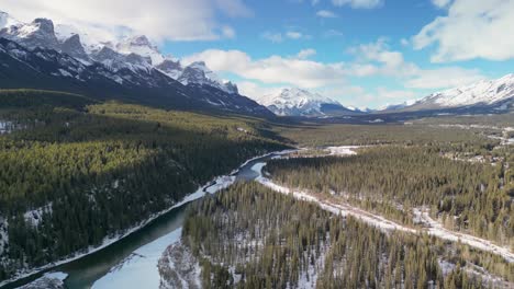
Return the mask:
<path id="1" fill-rule="evenodd" d="M 383 233 L 257 183 L 192 206 L 181 240 L 159 262 L 164 288 L 180 280 L 194 288 L 194 276 L 203 288 L 485 287 L 440 258 L 445 246 L 436 240 Z M 188 264 L 168 266 L 177 256 Z"/>

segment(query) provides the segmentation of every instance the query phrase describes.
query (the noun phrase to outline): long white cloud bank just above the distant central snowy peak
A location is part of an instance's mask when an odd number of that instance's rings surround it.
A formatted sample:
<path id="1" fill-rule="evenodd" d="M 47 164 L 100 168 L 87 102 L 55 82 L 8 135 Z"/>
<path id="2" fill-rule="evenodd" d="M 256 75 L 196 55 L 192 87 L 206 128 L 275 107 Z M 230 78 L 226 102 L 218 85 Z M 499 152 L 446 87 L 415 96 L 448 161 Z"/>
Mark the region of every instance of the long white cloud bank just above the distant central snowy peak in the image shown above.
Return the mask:
<path id="1" fill-rule="evenodd" d="M 265 84 L 287 84 L 305 89 L 343 84 L 346 71 L 343 63 L 322 63 L 308 59 L 270 56 L 252 59 L 239 50 L 210 49 L 182 59 L 185 63 L 204 60 L 219 72 L 231 72 Z"/>

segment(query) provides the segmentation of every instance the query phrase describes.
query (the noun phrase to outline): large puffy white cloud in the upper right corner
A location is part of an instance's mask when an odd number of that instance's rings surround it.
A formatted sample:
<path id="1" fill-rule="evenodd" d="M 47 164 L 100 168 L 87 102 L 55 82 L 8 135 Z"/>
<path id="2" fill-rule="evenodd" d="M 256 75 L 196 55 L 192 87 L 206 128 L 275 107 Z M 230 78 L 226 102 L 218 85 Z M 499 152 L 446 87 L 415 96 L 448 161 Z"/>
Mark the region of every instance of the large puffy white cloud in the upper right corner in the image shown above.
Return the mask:
<path id="1" fill-rule="evenodd" d="M 513 0 L 455 0 L 413 37 L 415 49 L 435 45 L 433 62 L 514 58 Z"/>

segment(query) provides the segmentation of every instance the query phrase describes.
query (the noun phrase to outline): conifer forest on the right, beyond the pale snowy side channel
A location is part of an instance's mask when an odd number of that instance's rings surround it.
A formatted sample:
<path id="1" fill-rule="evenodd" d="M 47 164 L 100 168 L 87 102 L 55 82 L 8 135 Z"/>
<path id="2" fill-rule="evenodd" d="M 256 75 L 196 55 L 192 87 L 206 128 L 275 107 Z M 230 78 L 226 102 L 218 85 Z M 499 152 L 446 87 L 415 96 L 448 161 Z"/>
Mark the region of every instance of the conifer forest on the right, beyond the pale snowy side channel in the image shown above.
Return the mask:
<path id="1" fill-rule="evenodd" d="M 450 229 L 514 247 L 514 172 L 504 150 L 494 166 L 444 158 L 437 147 L 377 147 L 347 158 L 273 160 L 266 170 L 288 186 L 365 200 L 381 212 L 428 206 Z"/>

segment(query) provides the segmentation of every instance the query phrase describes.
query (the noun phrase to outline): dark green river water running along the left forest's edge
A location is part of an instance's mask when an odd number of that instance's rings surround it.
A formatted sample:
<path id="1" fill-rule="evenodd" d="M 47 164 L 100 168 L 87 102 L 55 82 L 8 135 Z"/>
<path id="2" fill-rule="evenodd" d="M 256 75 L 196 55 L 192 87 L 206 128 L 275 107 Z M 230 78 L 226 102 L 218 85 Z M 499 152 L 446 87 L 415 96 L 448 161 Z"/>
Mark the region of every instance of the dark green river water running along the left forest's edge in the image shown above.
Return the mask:
<path id="1" fill-rule="evenodd" d="M 266 157 L 254 159 L 241 166 L 233 176 L 235 176 L 236 181 L 253 181 L 258 177 L 259 174 L 253 171 L 252 167 L 256 163 L 266 162 L 267 160 L 279 154 L 280 153 L 272 153 Z M 204 189 L 204 192 L 210 193 L 212 193 L 212 190 L 214 189 L 211 187 L 206 187 Z M 45 269 L 37 274 L 31 275 L 30 277 L 19 279 L 14 282 L 3 286 L 2 289 L 18 288 L 27 285 L 35 279 L 41 278 L 45 273 L 48 271 L 62 271 L 67 274 L 68 277 L 64 282 L 68 289 L 104 288 L 105 280 L 109 281 L 109 285 L 111 286 L 110 288 L 114 288 L 112 287 L 114 286 L 112 278 L 115 278 L 115 275 L 112 276 L 112 274 L 109 274 L 110 271 L 116 271 L 116 268 L 121 267 L 124 263 L 131 263 L 132 257 L 136 259 L 145 257 L 142 256 L 139 252 L 144 251 L 147 253 L 148 250 L 160 250 L 163 245 L 168 245 L 164 242 L 168 240 L 175 240 L 179 236 L 180 228 L 182 227 L 186 215 L 186 209 L 189 204 L 191 203 L 187 203 L 180 207 L 174 208 L 172 210 L 156 218 L 154 221 L 149 222 L 142 229 L 102 250 L 88 254 L 76 261 Z M 157 253 L 160 254 L 161 252 Z M 156 270 L 156 266 L 157 264 L 155 263 L 153 267 L 152 265 L 149 266 L 149 269 Z M 141 277 L 133 276 L 134 274 L 141 274 L 145 275 L 146 278 L 147 271 L 145 269 L 148 268 L 142 268 L 141 264 L 136 263 L 136 268 L 131 268 L 130 270 L 132 274 L 131 277 Z M 144 280 L 145 278 L 137 279 Z M 137 286 L 133 284 L 132 288 L 137 288 Z M 145 288 L 149 287 L 145 286 Z"/>

